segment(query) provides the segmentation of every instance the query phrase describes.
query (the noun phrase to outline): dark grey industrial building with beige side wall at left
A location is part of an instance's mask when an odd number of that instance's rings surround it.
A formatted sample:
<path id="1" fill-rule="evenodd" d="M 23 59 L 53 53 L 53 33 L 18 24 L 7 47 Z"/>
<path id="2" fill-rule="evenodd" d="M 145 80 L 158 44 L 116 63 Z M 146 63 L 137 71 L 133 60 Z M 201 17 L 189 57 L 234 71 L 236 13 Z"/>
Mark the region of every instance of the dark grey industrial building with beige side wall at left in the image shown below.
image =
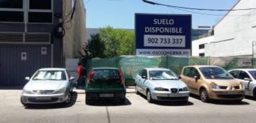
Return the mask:
<path id="1" fill-rule="evenodd" d="M 24 85 L 39 68 L 64 67 L 84 43 L 82 0 L 0 1 L 0 86 Z"/>

